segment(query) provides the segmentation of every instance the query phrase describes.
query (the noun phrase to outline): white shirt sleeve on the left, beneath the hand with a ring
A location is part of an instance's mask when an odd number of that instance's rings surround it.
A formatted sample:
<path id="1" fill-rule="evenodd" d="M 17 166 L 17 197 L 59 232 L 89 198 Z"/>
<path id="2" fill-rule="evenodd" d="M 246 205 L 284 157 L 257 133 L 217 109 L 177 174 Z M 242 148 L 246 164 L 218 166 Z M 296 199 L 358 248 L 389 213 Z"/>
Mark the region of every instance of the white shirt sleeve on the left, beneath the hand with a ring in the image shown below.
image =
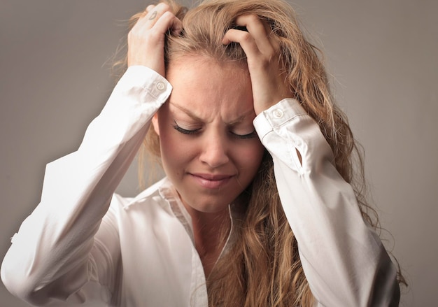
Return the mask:
<path id="1" fill-rule="evenodd" d="M 103 266 L 116 260 L 118 234 L 113 213 L 106 213 L 170 92 L 155 71 L 129 67 L 78 150 L 47 165 L 41 202 L 13 236 L 1 266 L 12 294 L 42 305 L 49 297 L 71 297 L 90 281 L 111 286 L 111 268 Z"/>

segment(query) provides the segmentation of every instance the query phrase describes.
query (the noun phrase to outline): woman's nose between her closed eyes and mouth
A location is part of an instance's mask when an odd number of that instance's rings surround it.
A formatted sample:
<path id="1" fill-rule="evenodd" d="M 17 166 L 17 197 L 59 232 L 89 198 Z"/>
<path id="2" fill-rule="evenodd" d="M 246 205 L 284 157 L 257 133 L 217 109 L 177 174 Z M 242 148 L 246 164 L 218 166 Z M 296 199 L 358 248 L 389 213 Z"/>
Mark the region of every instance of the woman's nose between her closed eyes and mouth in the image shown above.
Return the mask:
<path id="1" fill-rule="evenodd" d="M 226 136 L 214 133 L 204 136 L 199 159 L 211 168 L 217 168 L 229 162 Z"/>

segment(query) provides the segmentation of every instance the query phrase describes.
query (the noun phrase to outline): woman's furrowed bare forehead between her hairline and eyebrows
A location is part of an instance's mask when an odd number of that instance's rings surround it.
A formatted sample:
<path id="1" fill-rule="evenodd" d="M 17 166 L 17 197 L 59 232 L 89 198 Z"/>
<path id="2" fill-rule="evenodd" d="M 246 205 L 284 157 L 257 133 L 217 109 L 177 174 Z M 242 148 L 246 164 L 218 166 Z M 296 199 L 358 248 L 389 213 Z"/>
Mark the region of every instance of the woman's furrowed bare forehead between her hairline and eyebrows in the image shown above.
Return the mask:
<path id="1" fill-rule="evenodd" d="M 199 118 L 208 121 L 220 115 L 228 121 L 253 110 L 250 76 L 241 64 L 181 57 L 169 64 L 166 77 L 174 87 L 170 104 L 183 106 Z"/>

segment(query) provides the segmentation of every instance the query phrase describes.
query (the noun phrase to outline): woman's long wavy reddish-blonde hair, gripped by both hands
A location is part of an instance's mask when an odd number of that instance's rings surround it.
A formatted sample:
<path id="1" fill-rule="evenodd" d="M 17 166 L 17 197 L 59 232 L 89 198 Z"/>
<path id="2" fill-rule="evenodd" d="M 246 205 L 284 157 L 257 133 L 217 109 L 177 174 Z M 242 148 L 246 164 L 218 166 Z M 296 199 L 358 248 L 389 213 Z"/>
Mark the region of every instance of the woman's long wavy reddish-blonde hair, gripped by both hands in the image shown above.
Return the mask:
<path id="1" fill-rule="evenodd" d="M 304 37 L 288 3 L 208 0 L 186 10 L 173 0 L 164 2 L 183 22 L 181 35 L 167 36 L 164 48 L 167 65 L 186 55 L 246 65 L 246 55 L 240 45 L 223 45 L 223 35 L 236 26 L 236 17 L 243 14 L 255 14 L 269 24 L 271 33 L 281 42 L 278 60 L 285 69 L 285 82 L 290 85 L 295 99 L 318 123 L 334 153 L 337 171 L 353 186 L 364 220 L 376 229 L 377 216 L 364 197 L 362 155 L 346 116 L 334 104 L 325 68 L 318 57 L 320 52 Z M 132 22 L 138 17 L 135 15 Z M 143 145 L 159 162 L 160 140 L 154 129 L 150 129 Z M 143 156 L 140 165 L 142 161 Z M 140 169 L 142 171 L 142 167 Z M 207 279 L 209 306 L 311 306 L 313 296 L 299 259 L 297 241 L 278 197 L 268 152 L 253 183 L 243 194 L 248 201 L 241 221 L 236 223 L 236 242 L 218 260 Z M 400 280 L 403 281 L 402 276 Z"/>

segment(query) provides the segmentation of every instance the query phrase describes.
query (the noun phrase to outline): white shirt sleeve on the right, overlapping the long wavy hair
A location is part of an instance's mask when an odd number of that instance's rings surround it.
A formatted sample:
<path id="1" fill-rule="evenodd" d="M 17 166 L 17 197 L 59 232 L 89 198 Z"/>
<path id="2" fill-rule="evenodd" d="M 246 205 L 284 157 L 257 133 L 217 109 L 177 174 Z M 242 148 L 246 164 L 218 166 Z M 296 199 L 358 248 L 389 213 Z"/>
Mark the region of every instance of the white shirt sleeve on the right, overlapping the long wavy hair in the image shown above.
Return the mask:
<path id="1" fill-rule="evenodd" d="M 284 99 L 254 125 L 274 159 L 281 204 L 317 306 L 398 306 L 395 265 L 364 222 L 318 124 L 297 101 Z"/>

